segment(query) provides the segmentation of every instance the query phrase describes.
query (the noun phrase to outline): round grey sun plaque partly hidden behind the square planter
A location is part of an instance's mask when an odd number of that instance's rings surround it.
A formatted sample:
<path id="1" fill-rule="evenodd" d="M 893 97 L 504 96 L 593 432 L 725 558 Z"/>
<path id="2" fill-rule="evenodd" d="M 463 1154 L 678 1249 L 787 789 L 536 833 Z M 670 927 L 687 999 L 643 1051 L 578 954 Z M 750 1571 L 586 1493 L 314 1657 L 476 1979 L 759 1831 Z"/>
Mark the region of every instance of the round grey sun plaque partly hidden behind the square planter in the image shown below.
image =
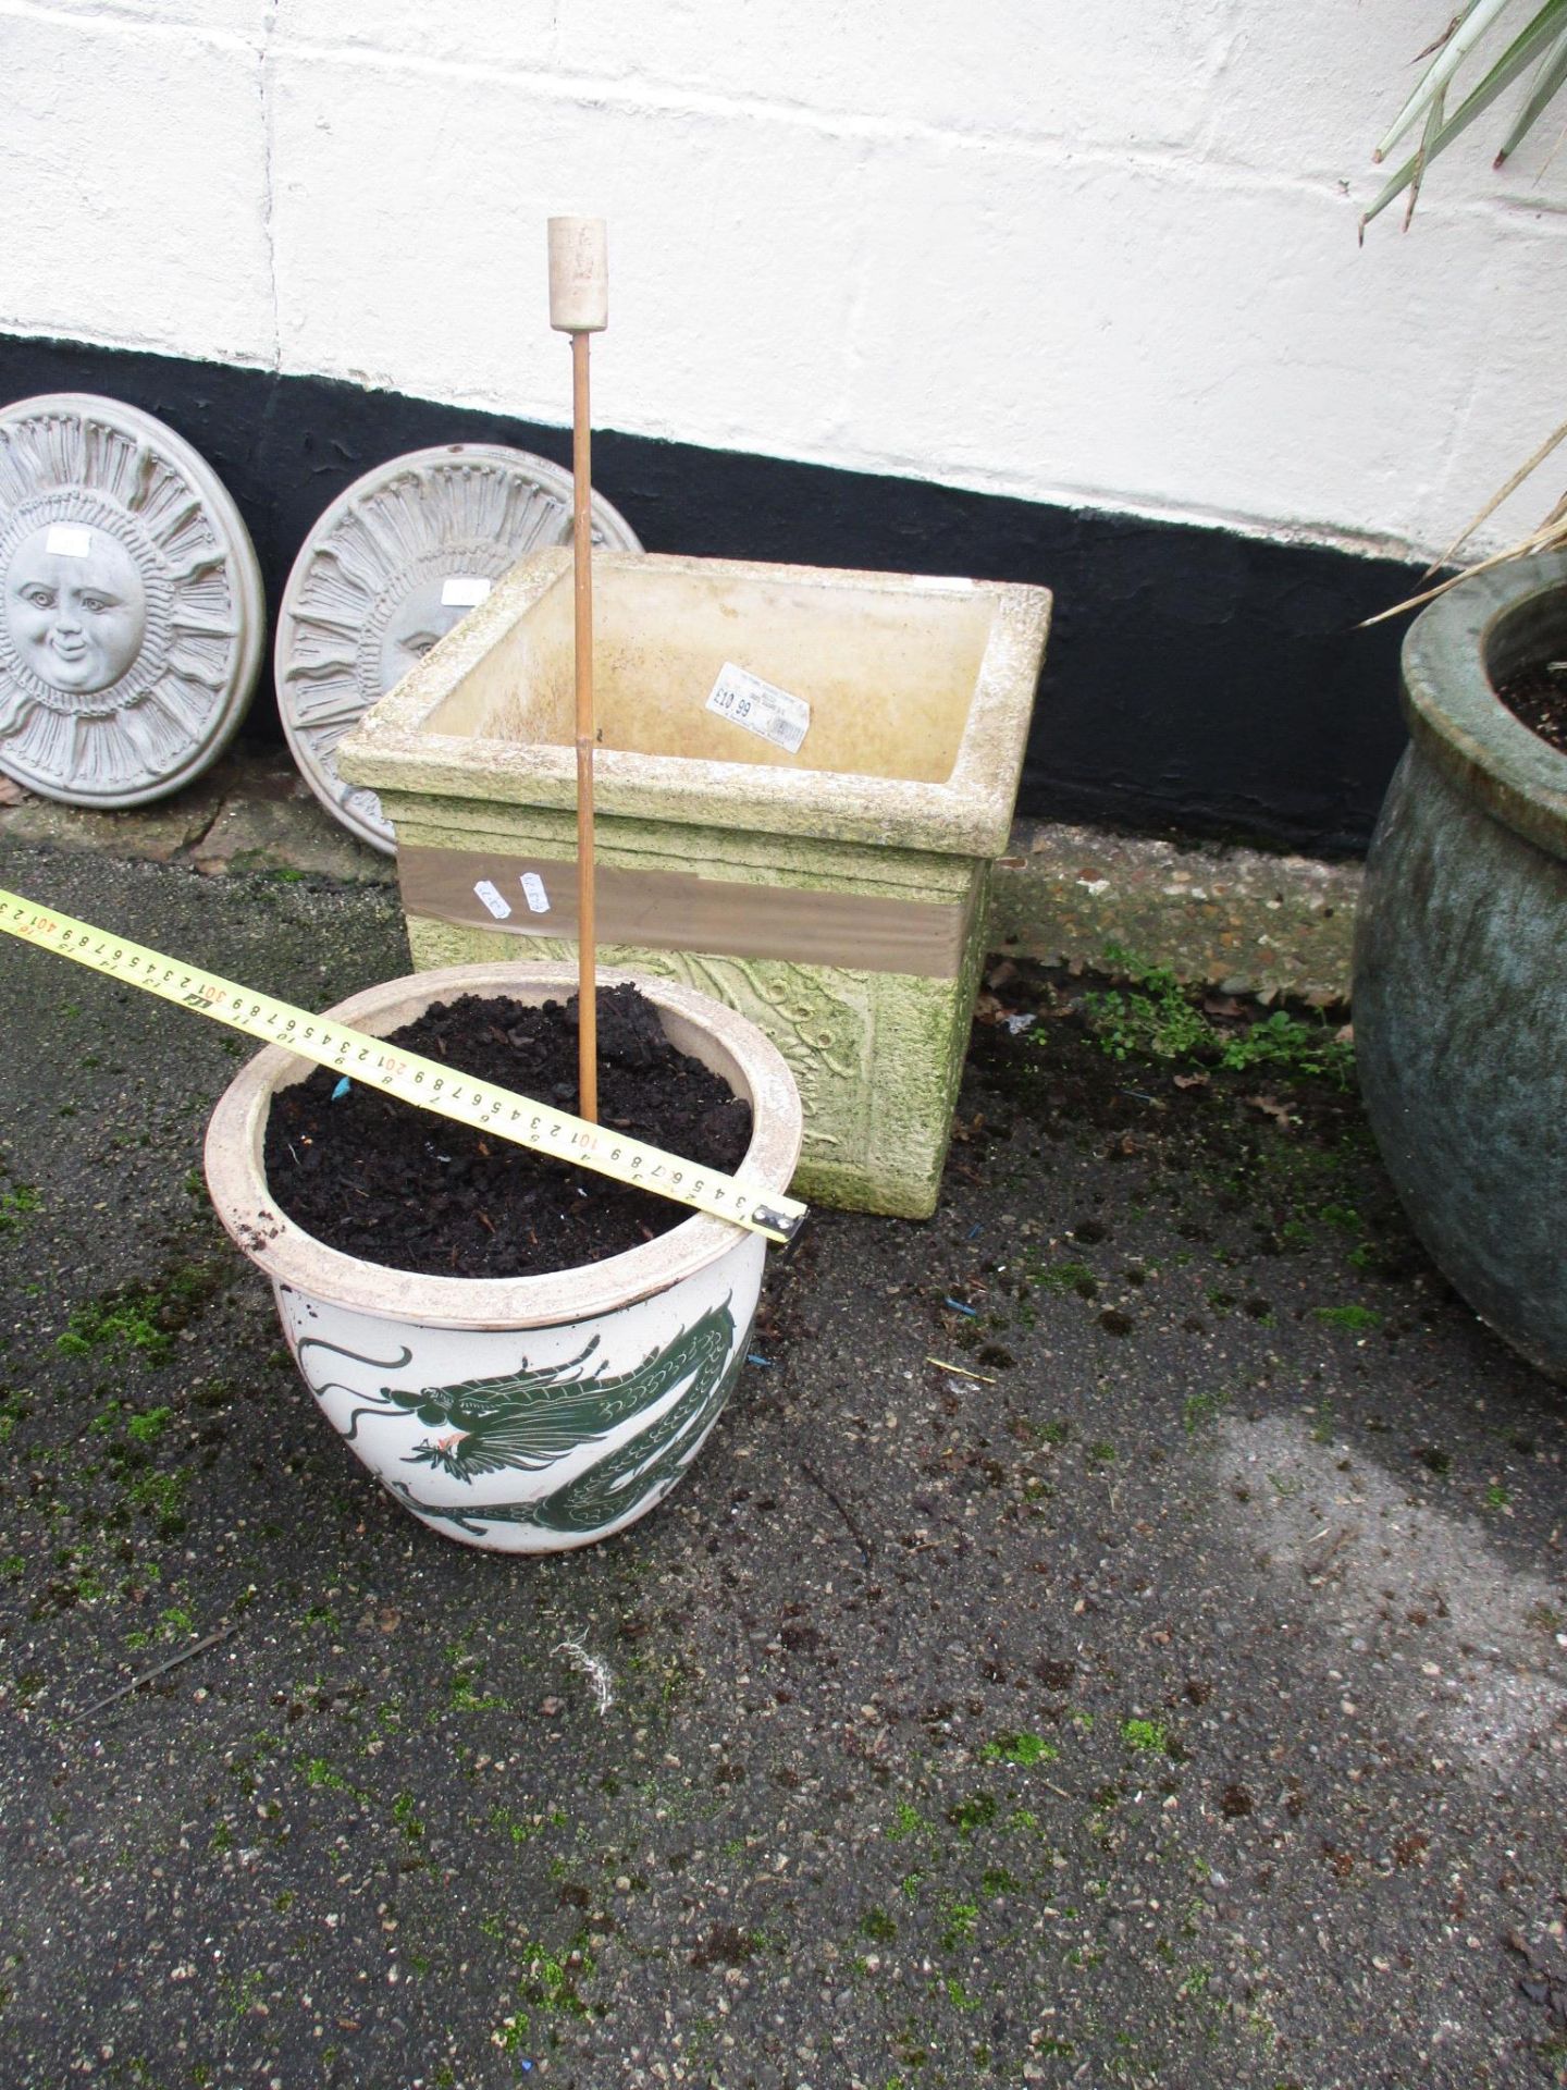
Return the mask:
<path id="1" fill-rule="evenodd" d="M 437 640 L 543 545 L 570 541 L 570 472 L 524 449 L 412 449 L 341 493 L 303 543 L 278 614 L 278 711 L 295 761 L 328 809 L 391 853 L 372 790 L 336 773 L 336 744 Z M 593 543 L 639 552 L 593 495 Z"/>

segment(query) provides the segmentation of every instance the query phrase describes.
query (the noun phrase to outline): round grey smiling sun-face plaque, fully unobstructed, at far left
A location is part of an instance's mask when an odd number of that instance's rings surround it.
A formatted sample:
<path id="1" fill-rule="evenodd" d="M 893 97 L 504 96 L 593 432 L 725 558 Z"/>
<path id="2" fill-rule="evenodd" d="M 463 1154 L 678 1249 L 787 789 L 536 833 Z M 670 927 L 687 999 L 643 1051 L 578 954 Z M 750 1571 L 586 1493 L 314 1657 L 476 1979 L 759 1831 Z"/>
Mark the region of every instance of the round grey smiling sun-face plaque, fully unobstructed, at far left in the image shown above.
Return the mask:
<path id="1" fill-rule="evenodd" d="M 0 769 L 65 805 L 165 798 L 261 667 L 251 539 L 211 466 L 117 399 L 0 410 Z"/>

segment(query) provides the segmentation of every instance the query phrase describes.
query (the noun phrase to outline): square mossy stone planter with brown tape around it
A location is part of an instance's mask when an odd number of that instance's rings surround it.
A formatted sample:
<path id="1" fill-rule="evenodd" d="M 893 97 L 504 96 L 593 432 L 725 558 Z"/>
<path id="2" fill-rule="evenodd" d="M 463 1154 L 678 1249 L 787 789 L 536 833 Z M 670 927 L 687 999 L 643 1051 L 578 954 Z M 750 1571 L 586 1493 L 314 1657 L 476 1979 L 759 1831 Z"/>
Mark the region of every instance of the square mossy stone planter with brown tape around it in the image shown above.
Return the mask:
<path id="1" fill-rule="evenodd" d="M 602 961 L 767 1030 L 800 1195 L 926 1216 L 1049 594 L 598 554 L 593 625 Z M 809 706 L 796 752 L 708 709 L 723 677 L 767 715 L 725 669 Z M 416 966 L 575 949 L 572 732 L 570 554 L 539 552 L 341 742 L 397 828 Z"/>

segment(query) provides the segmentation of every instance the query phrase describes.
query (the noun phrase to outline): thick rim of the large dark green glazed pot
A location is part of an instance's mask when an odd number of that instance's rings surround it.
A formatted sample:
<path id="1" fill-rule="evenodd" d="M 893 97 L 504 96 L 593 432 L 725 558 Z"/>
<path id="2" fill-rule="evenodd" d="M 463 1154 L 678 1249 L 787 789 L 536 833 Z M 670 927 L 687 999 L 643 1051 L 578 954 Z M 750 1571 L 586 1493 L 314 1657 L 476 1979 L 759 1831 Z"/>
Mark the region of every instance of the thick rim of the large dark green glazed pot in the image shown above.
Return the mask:
<path id="1" fill-rule="evenodd" d="M 1404 633 L 1404 721 L 1483 811 L 1548 855 L 1567 857 L 1567 754 L 1498 698 L 1486 671 L 1496 627 L 1540 596 L 1567 594 L 1567 552 L 1477 573 Z"/>

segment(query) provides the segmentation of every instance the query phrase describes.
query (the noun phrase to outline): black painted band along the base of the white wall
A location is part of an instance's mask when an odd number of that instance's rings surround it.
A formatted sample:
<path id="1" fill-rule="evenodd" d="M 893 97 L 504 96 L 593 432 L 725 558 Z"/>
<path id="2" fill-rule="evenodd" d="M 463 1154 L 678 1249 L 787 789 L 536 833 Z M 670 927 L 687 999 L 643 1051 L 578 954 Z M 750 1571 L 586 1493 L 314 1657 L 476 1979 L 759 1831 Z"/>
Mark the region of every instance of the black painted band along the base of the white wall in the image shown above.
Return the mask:
<path id="1" fill-rule="evenodd" d="M 460 441 L 570 464 L 564 428 L 0 334 L 0 403 L 46 391 L 130 401 L 194 443 L 244 514 L 274 610 L 309 527 L 372 464 Z M 1402 625 L 1356 625 L 1410 594 L 1396 560 L 612 431 L 593 437 L 593 481 L 650 552 L 1051 587 L 1024 813 L 1327 855 L 1371 836 L 1404 744 Z M 280 738 L 270 681 L 247 732 Z"/>

